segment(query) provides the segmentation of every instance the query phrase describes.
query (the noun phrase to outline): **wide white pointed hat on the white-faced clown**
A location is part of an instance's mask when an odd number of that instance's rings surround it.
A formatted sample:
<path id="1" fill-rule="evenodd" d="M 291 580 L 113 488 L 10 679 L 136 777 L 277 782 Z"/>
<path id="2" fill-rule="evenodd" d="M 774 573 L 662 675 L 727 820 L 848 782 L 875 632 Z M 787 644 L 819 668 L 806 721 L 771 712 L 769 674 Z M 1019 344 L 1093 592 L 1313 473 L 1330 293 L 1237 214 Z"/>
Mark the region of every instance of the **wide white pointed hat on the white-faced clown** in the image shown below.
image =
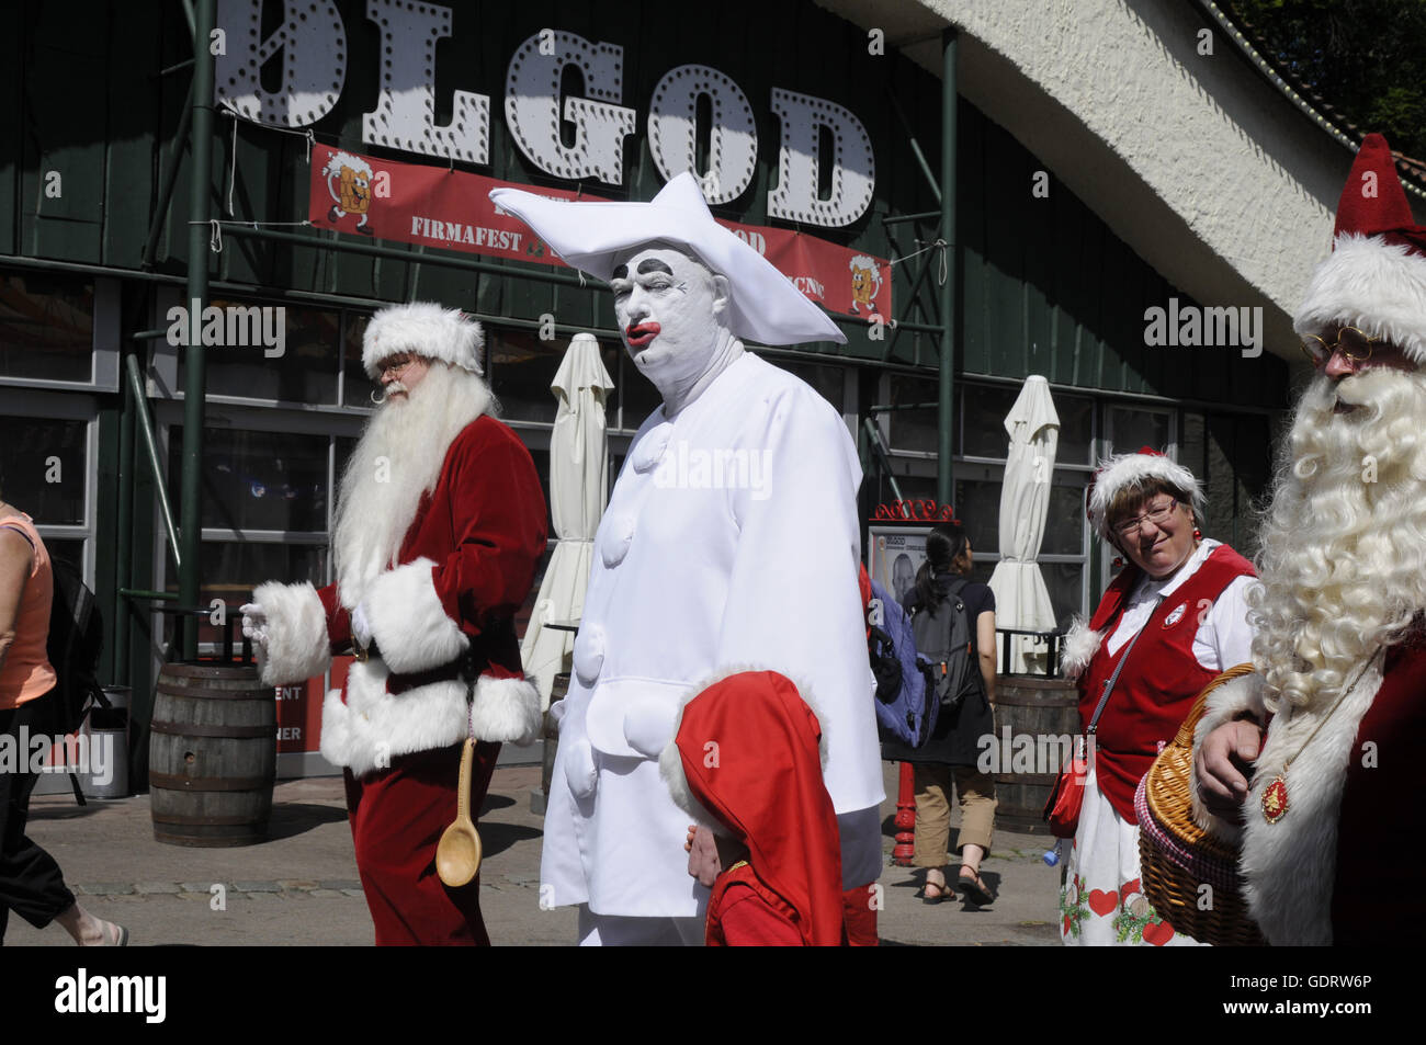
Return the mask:
<path id="1" fill-rule="evenodd" d="M 803 341 L 847 344 L 826 312 L 771 262 L 713 220 L 697 180 L 687 171 L 649 202 L 576 202 L 518 188 L 496 188 L 491 200 L 509 211 L 563 261 L 609 281 L 620 255 L 656 240 L 686 247 L 732 287 L 729 326 L 763 345 Z"/>

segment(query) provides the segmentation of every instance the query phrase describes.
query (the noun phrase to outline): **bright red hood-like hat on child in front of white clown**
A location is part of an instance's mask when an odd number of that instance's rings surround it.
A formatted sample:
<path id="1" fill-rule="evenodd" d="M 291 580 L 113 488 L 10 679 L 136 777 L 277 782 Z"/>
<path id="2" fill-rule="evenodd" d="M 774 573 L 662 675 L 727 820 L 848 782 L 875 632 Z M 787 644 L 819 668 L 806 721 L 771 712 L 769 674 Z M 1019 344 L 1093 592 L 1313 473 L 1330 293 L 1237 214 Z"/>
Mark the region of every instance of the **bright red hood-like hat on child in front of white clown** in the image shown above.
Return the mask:
<path id="1" fill-rule="evenodd" d="M 790 679 L 739 671 L 700 687 L 659 771 L 693 820 L 747 847 L 809 947 L 841 942 L 841 843 L 821 778 L 821 726 Z"/>

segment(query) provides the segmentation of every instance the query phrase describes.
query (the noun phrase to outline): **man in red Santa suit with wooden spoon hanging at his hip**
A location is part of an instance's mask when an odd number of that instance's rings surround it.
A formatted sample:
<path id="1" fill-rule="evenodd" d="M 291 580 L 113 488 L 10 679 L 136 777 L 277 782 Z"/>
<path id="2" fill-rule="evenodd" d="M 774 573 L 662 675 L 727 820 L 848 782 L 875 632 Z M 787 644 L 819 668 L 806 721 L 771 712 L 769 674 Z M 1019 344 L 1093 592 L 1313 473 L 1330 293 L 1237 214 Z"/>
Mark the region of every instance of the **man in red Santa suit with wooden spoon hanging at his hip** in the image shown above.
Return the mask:
<path id="1" fill-rule="evenodd" d="M 492 416 L 481 348 L 479 325 L 439 305 L 372 316 L 362 365 L 374 379 L 396 355 L 431 366 L 409 401 L 381 406 L 347 466 L 337 583 L 254 592 L 264 681 L 319 676 L 334 652 L 356 652 L 322 706 L 321 751 L 345 770 L 376 944 L 489 944 L 479 878 L 445 887 L 436 841 L 456 814 L 465 738 L 479 741 L 479 810 L 501 743 L 540 726 L 513 614 L 545 550 L 545 499 L 529 452 Z"/>

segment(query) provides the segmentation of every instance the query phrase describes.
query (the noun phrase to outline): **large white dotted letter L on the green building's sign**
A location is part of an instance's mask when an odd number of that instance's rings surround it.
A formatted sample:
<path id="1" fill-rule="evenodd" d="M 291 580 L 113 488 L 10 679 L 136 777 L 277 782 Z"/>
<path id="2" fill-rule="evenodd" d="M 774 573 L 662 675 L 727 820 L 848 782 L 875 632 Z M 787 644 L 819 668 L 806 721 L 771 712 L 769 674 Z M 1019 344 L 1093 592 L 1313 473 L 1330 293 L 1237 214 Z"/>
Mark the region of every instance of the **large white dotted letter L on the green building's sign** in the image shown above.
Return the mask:
<path id="1" fill-rule="evenodd" d="M 381 94 L 361 118 L 361 140 L 472 164 L 489 163 L 491 100 L 455 91 L 448 127 L 436 127 L 436 40 L 451 36 L 451 9 L 366 0 L 381 26 Z"/>

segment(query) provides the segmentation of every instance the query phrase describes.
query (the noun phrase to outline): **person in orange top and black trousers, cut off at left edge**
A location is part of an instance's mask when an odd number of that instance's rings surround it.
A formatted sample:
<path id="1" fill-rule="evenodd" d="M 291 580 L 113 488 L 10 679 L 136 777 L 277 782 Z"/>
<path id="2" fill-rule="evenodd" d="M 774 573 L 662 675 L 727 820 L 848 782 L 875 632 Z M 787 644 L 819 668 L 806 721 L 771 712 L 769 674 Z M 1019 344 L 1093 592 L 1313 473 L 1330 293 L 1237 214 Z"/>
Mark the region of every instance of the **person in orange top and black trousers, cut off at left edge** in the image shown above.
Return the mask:
<path id="1" fill-rule="evenodd" d="M 123 947 L 128 930 L 96 918 L 74 901 L 54 857 L 24 834 L 36 774 L 24 736 L 51 733 L 54 669 L 44 653 L 54 576 L 30 516 L 0 500 L 0 941 L 10 911 L 37 930 L 60 922 L 80 947 Z"/>

